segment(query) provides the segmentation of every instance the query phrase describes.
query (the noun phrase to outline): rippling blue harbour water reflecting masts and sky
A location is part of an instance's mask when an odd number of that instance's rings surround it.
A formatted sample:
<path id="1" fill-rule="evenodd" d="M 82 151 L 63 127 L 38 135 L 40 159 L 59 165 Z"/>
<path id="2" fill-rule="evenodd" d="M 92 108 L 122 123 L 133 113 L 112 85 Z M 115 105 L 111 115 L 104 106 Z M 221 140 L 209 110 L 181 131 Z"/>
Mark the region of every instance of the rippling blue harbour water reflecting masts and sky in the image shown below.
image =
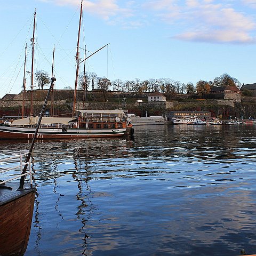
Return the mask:
<path id="1" fill-rule="evenodd" d="M 256 125 L 134 128 L 36 143 L 25 255 L 256 253 Z"/>

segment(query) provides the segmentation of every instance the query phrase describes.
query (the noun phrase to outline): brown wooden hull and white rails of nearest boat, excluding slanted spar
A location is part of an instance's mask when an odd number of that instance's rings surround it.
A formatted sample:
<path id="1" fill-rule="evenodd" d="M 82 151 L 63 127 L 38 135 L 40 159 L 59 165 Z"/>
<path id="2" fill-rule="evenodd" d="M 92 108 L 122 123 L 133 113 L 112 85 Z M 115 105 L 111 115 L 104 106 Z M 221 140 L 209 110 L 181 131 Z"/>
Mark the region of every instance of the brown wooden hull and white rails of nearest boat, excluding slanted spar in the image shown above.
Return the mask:
<path id="1" fill-rule="evenodd" d="M 0 160 L 0 164 L 6 164 L 15 159 L 22 160 L 25 154 L 28 152 L 6 157 Z M 23 164 L 30 166 L 30 161 Z M 31 175 L 30 168 L 26 175 Z M 35 188 L 31 185 L 26 184 L 19 189 L 17 182 L 0 182 L 0 255 L 23 255 L 25 253 L 33 217 L 34 200 Z"/>

